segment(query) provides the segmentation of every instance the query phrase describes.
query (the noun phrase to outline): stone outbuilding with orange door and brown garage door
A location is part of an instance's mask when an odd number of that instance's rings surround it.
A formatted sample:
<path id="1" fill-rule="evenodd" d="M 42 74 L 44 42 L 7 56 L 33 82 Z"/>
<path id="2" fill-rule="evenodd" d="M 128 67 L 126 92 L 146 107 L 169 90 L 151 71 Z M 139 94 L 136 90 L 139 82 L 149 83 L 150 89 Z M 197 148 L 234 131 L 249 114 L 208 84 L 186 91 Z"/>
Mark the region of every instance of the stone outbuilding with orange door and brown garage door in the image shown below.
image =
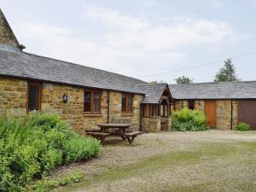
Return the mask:
<path id="1" fill-rule="evenodd" d="M 212 128 L 232 130 L 245 122 L 256 130 L 256 82 L 170 84 L 175 110 L 198 109 Z"/>

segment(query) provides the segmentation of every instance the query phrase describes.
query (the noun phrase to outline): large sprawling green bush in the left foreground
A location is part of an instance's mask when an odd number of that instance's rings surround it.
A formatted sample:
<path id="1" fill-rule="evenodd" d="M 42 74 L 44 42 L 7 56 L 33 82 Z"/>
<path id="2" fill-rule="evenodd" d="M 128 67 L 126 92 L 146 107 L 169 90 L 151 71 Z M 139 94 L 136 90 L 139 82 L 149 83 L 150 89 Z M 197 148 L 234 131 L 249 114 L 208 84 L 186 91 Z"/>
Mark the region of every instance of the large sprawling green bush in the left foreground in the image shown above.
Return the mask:
<path id="1" fill-rule="evenodd" d="M 87 160 L 100 143 L 81 137 L 59 115 L 31 113 L 23 120 L 0 117 L 0 191 L 25 191 L 56 166 Z"/>

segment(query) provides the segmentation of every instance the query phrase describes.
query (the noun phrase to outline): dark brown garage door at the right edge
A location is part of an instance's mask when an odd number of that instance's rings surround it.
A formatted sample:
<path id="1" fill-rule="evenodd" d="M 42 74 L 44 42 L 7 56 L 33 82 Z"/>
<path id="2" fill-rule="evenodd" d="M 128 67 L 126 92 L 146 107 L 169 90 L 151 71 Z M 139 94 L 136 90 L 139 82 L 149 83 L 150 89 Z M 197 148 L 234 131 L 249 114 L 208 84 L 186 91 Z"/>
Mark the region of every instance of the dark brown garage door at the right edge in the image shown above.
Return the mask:
<path id="1" fill-rule="evenodd" d="M 238 102 L 238 121 L 247 123 L 256 130 L 256 101 Z"/>

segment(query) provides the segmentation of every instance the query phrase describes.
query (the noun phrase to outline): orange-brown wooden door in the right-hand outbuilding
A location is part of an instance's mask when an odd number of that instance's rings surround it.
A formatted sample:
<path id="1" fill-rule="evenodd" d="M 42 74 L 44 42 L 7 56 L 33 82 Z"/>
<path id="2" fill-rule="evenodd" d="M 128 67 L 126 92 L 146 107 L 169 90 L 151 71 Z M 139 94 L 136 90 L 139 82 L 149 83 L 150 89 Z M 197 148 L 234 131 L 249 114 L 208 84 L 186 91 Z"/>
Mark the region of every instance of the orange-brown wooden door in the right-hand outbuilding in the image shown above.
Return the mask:
<path id="1" fill-rule="evenodd" d="M 206 100 L 205 101 L 205 114 L 207 116 L 207 125 L 212 128 L 216 127 L 216 101 L 214 100 Z"/>

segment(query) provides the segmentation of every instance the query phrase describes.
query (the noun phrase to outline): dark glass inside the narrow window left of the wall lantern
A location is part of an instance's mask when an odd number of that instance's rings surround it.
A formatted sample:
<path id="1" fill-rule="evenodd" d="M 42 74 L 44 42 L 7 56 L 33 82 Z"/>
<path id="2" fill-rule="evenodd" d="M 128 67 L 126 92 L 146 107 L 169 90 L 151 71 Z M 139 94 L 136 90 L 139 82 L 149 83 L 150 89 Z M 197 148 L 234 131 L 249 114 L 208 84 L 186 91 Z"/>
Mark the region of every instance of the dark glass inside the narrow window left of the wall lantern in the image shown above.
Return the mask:
<path id="1" fill-rule="evenodd" d="M 29 84 L 28 111 L 39 110 L 39 84 Z"/>

